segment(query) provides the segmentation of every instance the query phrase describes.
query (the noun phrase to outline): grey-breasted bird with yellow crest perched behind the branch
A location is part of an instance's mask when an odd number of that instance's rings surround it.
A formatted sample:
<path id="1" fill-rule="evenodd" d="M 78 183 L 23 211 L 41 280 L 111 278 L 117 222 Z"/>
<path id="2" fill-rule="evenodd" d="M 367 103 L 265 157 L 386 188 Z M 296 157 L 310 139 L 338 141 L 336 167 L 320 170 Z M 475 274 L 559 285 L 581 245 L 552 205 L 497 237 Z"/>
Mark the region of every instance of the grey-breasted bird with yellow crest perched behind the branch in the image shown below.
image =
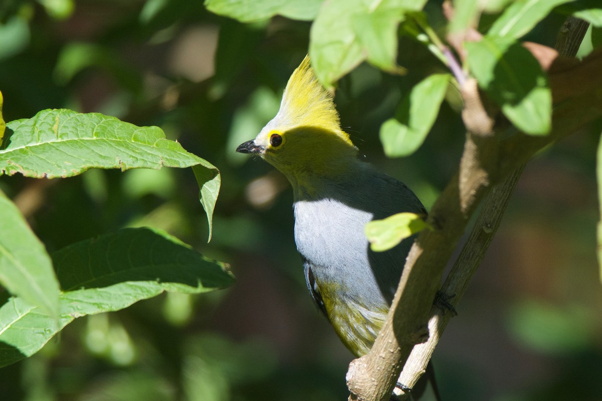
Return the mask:
<path id="1" fill-rule="evenodd" d="M 291 183 L 294 242 L 309 294 L 352 354 L 367 354 L 414 237 L 374 252 L 364 227 L 400 212 L 426 216 L 423 204 L 408 186 L 362 160 L 309 56 L 288 80 L 275 117 L 236 152 L 260 156 Z"/>

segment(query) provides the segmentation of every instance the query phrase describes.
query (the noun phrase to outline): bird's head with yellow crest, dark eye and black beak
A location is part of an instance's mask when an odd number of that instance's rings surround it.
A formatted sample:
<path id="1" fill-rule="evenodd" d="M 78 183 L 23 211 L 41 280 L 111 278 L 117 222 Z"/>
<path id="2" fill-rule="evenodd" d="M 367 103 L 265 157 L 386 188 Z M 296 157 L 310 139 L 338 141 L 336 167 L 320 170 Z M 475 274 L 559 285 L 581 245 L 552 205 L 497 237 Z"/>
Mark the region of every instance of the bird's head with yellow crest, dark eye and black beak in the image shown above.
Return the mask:
<path id="1" fill-rule="evenodd" d="M 341 130 L 332 95 L 318 82 L 309 57 L 288 80 L 276 117 L 236 151 L 261 156 L 293 185 L 344 174 L 358 152 Z"/>

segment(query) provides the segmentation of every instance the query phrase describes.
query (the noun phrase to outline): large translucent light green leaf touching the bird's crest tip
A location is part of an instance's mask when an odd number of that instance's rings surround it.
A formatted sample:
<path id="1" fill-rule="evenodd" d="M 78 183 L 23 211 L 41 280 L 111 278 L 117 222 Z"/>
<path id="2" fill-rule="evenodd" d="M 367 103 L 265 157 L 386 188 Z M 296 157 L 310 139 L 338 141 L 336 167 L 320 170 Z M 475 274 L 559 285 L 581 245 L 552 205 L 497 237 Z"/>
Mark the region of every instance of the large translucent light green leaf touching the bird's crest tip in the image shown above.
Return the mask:
<path id="1" fill-rule="evenodd" d="M 309 32 L 309 55 L 320 82 L 331 87 L 333 82 L 367 58 L 386 70 L 395 70 L 397 25 L 406 11 L 419 11 L 425 2 L 324 2 Z M 356 26 L 356 23 L 360 26 Z"/>

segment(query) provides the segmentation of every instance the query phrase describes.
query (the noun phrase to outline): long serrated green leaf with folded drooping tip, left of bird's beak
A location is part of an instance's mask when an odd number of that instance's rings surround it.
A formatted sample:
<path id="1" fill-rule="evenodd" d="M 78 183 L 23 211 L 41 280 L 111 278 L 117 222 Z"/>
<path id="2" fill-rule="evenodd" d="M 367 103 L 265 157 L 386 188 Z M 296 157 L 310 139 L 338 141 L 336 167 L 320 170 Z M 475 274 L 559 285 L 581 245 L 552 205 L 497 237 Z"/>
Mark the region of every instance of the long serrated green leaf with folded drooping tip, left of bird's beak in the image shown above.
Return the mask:
<path id="1" fill-rule="evenodd" d="M 33 118 L 11 121 L 0 148 L 0 175 L 72 177 L 90 168 L 192 167 L 203 207 L 211 214 L 219 190 L 219 171 L 204 159 L 165 138 L 159 127 L 137 127 L 99 113 L 67 109 L 43 110 Z M 201 173 L 201 170 L 206 170 Z M 207 182 L 209 191 L 203 186 Z M 216 185 L 216 182 L 218 185 Z M 209 228 L 211 230 L 211 228 Z"/>

